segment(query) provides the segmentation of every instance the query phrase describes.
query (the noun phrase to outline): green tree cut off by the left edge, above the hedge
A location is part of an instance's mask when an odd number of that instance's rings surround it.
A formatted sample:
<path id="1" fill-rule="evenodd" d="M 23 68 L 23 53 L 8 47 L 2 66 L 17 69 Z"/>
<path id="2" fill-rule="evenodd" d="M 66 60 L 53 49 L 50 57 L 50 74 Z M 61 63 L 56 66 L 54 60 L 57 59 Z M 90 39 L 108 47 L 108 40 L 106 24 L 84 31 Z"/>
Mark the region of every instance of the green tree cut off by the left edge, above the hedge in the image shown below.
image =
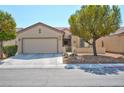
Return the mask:
<path id="1" fill-rule="evenodd" d="M 11 14 L 0 11 L 0 57 L 3 58 L 3 41 L 16 38 L 16 23 Z"/>

